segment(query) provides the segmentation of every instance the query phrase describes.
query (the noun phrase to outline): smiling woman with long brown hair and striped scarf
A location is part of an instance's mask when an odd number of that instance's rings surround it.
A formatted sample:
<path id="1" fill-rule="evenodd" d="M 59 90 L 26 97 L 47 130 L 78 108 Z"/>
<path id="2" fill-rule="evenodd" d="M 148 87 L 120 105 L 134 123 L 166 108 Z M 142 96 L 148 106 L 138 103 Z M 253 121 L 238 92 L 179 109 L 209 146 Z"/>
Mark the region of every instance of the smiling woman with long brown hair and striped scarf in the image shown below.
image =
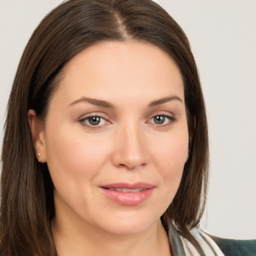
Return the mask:
<path id="1" fill-rule="evenodd" d="M 188 40 L 162 8 L 59 5 L 32 34 L 9 98 L 0 254 L 222 255 L 196 228 L 206 127 Z"/>

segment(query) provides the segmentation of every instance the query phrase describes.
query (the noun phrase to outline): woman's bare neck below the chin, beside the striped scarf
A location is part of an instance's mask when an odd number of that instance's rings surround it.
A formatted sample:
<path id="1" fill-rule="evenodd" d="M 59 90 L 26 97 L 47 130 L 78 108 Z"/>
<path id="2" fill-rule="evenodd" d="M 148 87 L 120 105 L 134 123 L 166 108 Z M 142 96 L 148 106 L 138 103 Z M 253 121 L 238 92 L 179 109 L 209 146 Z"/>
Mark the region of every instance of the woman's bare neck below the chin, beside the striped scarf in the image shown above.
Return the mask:
<path id="1" fill-rule="evenodd" d="M 112 234 L 85 223 L 52 220 L 52 233 L 57 254 L 97 256 L 156 256 L 170 255 L 168 237 L 158 220 L 148 230 L 139 234 Z"/>

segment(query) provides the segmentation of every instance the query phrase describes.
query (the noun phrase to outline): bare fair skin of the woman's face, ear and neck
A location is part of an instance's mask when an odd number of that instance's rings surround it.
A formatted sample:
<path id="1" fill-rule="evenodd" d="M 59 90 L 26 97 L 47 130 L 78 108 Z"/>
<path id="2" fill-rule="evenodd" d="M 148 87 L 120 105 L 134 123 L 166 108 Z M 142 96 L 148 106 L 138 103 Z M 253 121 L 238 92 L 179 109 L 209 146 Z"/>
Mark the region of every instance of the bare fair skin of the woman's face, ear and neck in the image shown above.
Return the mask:
<path id="1" fill-rule="evenodd" d="M 160 216 L 180 183 L 188 129 L 182 78 L 165 52 L 136 41 L 89 46 L 64 67 L 43 123 L 32 109 L 28 119 L 55 187 L 58 255 L 170 255 Z M 122 205 L 100 189 L 116 182 L 154 189 Z"/>

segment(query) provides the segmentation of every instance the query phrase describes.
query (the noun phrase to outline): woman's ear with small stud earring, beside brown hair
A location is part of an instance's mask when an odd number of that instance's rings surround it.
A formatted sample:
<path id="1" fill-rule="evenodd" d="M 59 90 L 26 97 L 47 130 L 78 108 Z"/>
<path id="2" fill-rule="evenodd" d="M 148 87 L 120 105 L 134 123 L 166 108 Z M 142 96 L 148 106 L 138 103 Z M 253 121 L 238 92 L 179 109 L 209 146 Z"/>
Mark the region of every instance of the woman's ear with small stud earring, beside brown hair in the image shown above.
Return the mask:
<path id="1" fill-rule="evenodd" d="M 27 112 L 27 118 L 33 139 L 34 150 L 39 162 L 46 162 L 45 139 L 42 121 L 36 116 L 33 109 Z"/>

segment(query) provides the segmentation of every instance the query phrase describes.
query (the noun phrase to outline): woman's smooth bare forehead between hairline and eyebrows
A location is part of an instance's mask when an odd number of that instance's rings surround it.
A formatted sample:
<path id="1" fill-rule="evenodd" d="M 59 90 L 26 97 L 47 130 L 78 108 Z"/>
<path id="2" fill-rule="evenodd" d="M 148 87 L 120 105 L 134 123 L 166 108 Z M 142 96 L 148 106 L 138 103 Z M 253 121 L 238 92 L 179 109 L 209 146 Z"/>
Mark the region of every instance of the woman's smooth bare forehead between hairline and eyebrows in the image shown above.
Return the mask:
<path id="1" fill-rule="evenodd" d="M 159 47 L 138 41 L 102 41 L 67 63 L 56 93 L 67 101 L 81 96 L 151 100 L 166 94 L 183 99 L 183 83 L 177 65 Z"/>

